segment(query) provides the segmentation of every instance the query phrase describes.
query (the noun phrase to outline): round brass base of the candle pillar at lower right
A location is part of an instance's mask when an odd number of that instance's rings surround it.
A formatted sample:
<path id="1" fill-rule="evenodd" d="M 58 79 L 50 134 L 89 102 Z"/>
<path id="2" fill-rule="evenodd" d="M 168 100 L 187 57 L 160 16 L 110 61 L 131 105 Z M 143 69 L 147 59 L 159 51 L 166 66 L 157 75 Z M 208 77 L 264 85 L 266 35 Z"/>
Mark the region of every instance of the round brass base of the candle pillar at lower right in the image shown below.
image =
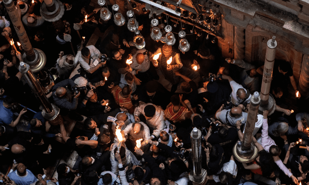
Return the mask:
<path id="1" fill-rule="evenodd" d="M 242 142 L 238 140 L 238 142 L 235 144 L 233 148 L 232 152 L 235 159 L 239 162 L 244 163 L 252 162 L 259 154 L 259 150 L 254 146 L 252 142 L 249 150 L 242 150 L 241 143 Z"/>

